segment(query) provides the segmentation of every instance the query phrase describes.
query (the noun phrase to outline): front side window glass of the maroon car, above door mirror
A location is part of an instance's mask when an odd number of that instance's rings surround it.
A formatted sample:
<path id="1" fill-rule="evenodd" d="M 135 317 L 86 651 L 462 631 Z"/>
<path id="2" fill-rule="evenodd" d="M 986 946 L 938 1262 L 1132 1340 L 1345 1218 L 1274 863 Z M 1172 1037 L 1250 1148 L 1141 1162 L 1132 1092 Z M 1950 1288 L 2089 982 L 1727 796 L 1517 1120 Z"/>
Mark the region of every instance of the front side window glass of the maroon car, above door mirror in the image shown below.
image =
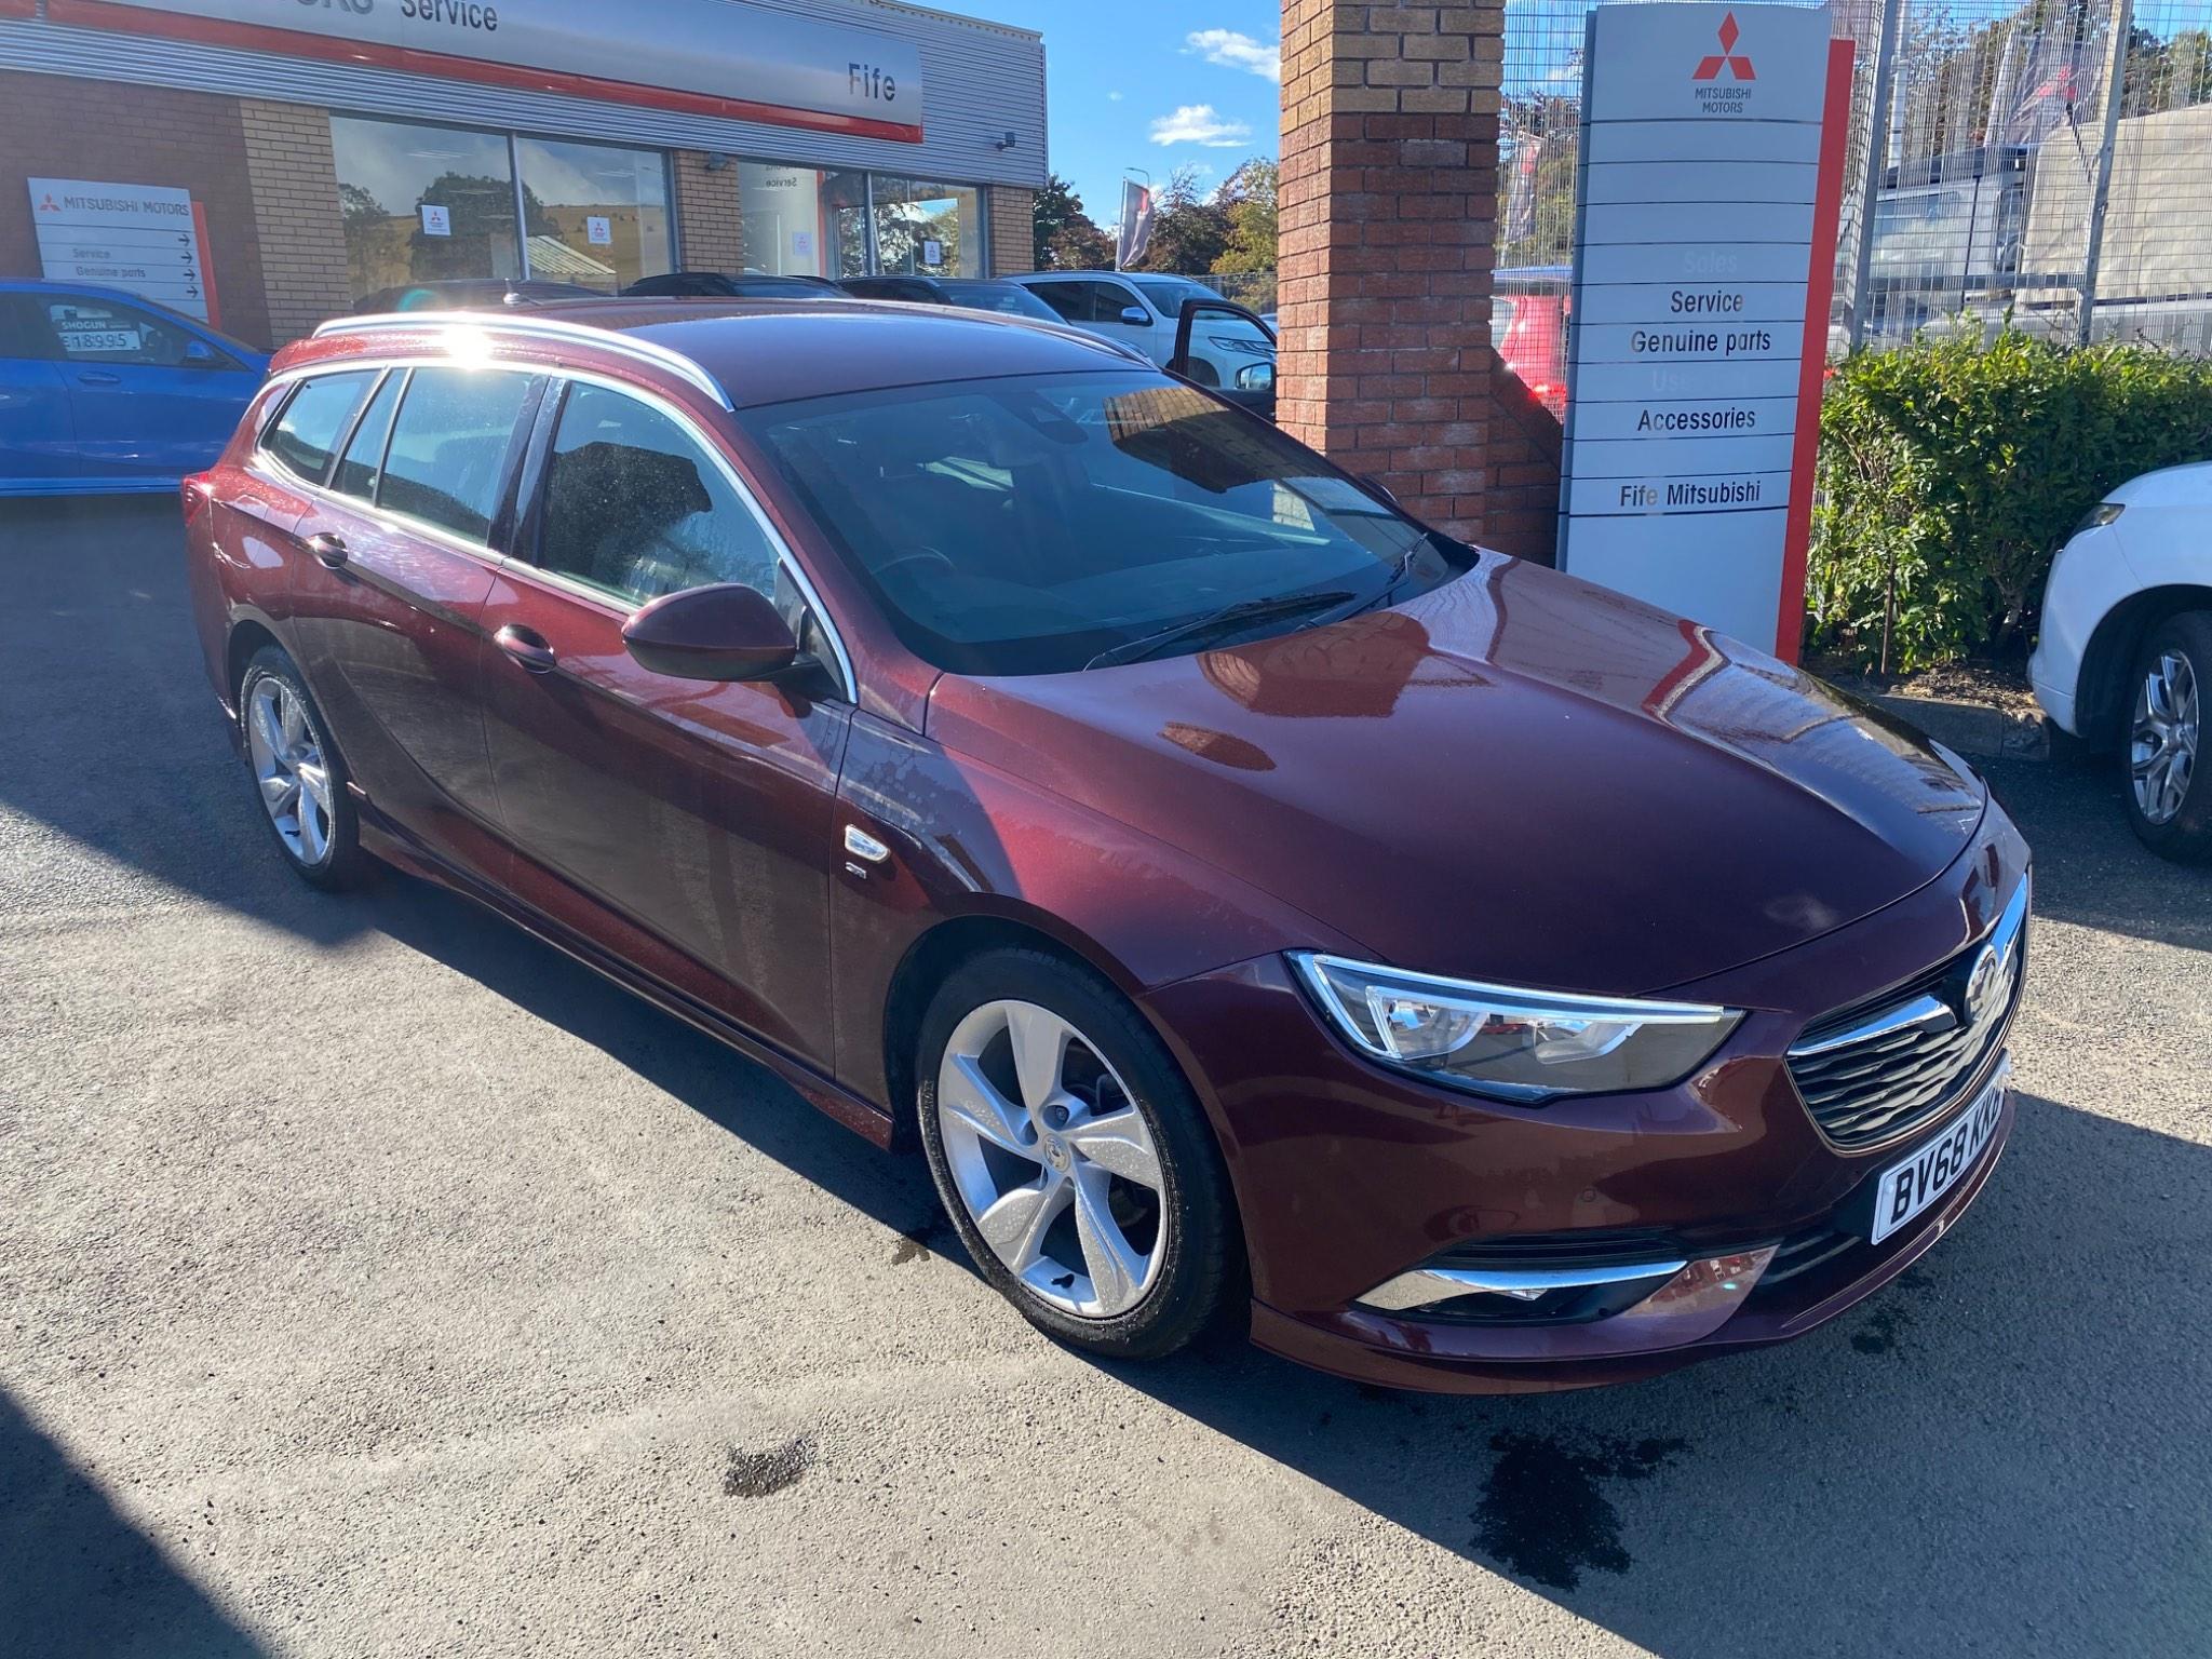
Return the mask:
<path id="1" fill-rule="evenodd" d="M 639 604 L 710 582 L 776 593 L 776 553 L 721 467 L 659 409 L 595 385 L 562 405 L 538 557 Z"/>

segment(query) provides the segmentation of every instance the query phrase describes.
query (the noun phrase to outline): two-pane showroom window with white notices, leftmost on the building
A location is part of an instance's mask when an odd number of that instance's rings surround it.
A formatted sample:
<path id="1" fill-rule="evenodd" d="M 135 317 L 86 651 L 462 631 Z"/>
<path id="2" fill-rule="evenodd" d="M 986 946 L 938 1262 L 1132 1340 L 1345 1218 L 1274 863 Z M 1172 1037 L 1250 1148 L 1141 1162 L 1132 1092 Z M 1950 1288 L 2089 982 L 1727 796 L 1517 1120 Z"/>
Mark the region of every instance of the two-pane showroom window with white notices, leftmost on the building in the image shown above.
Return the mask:
<path id="1" fill-rule="evenodd" d="M 675 268 L 659 150 L 358 115 L 330 117 L 330 148 L 356 305 L 471 276 L 611 294 Z"/>

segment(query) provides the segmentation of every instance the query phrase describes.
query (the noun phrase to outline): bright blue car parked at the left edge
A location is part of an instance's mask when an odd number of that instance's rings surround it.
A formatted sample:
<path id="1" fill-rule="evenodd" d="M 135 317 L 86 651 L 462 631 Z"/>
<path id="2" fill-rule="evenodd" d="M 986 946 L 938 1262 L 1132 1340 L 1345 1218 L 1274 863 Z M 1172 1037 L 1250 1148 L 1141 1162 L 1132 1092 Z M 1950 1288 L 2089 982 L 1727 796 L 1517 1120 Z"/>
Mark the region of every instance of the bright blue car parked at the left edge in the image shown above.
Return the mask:
<path id="1" fill-rule="evenodd" d="M 135 294 L 0 281 L 0 495 L 173 491 L 223 453 L 268 365 Z"/>

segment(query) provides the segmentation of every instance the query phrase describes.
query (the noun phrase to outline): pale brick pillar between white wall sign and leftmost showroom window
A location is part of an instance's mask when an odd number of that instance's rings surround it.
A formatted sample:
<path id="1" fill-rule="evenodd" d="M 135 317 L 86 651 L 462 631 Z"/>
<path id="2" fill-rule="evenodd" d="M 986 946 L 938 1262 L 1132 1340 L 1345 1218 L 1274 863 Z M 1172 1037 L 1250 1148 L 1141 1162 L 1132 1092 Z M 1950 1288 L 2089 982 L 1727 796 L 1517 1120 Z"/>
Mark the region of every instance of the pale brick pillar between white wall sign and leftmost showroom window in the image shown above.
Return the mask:
<path id="1" fill-rule="evenodd" d="M 246 170 L 254 190 L 254 234 L 268 294 L 270 343 L 285 345 L 352 310 L 338 168 L 330 113 L 310 104 L 239 100 Z"/>

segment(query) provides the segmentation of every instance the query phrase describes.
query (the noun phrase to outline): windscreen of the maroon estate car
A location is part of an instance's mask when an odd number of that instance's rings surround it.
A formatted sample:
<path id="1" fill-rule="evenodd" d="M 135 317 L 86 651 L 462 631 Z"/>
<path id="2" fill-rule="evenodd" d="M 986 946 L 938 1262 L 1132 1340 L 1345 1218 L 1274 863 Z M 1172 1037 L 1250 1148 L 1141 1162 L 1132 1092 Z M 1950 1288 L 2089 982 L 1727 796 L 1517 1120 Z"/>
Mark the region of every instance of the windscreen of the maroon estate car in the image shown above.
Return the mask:
<path id="1" fill-rule="evenodd" d="M 741 409 L 900 639 L 951 672 L 1084 668 L 1161 630 L 1199 650 L 1345 615 L 1467 568 L 1310 449 L 1141 372 L 896 387 Z"/>

